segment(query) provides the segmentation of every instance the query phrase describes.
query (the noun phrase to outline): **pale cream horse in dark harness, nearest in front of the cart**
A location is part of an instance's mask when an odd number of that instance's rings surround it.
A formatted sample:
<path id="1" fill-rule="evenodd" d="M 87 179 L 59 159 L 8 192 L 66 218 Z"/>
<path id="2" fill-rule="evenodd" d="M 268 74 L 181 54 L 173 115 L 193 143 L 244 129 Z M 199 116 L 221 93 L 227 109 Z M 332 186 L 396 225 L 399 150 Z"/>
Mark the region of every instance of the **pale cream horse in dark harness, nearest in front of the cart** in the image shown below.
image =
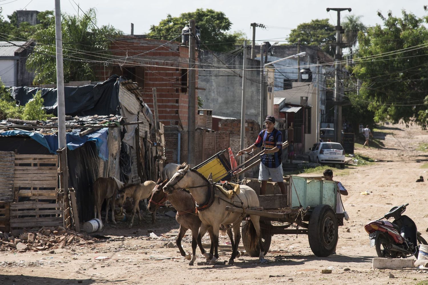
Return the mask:
<path id="1" fill-rule="evenodd" d="M 247 185 L 241 185 L 241 191 L 238 195 L 234 195 L 229 199 L 226 194 L 219 191 L 217 187 L 212 185 L 201 173 L 190 168 L 190 165 L 183 163 L 180 169 L 172 176 L 168 183 L 163 187 L 163 191 L 168 193 L 177 189 L 186 188 L 190 191 L 196 201 L 199 210 L 199 218 L 202 221 L 199 229 L 198 243 L 205 235 L 207 230 L 212 232 L 211 244 L 214 244 L 214 256 L 210 261 L 210 265 L 216 263 L 218 259 L 218 237 L 219 229 L 222 224 L 232 224 L 233 233 L 235 234 L 235 244 L 232 251 L 232 256 L 229 259 L 229 264 L 234 263 L 234 259 L 238 252 L 241 233 L 239 231 L 241 221 L 244 215 L 241 213 L 233 213 L 226 211 L 226 206 L 235 206 L 238 208 L 255 208 L 259 207 L 259 199 L 256 192 Z M 252 250 L 255 250 L 257 243 L 260 247 L 259 261 L 263 262 L 263 254 L 265 252 L 262 243 L 262 235 L 260 232 L 260 217 L 250 215 L 253 222 L 255 234 L 249 233 Z M 202 253 L 207 259 L 208 253 Z"/>

